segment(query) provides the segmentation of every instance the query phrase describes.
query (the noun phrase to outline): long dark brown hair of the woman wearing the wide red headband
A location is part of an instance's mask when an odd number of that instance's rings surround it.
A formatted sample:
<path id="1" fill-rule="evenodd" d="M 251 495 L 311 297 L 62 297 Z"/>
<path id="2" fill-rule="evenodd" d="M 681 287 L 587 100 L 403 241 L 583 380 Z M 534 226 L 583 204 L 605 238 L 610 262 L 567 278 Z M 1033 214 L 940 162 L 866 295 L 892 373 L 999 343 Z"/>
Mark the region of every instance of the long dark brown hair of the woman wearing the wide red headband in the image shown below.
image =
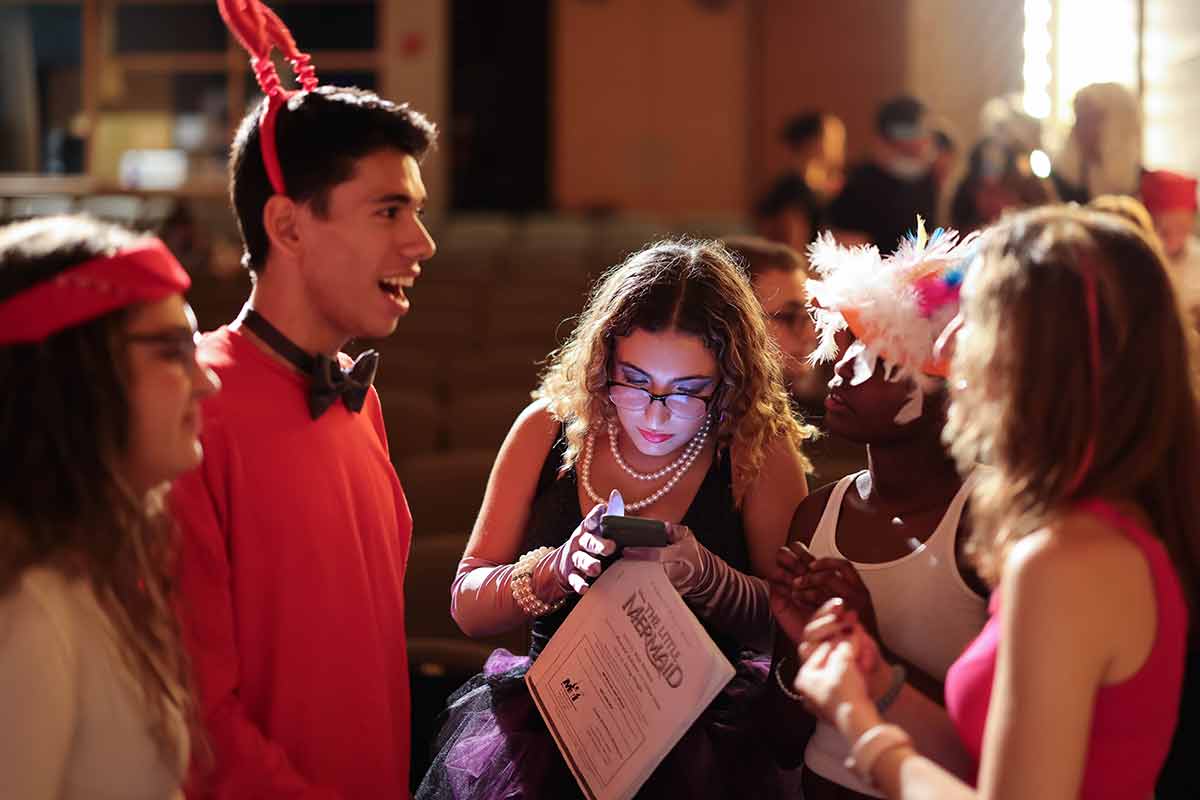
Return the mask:
<path id="1" fill-rule="evenodd" d="M 112 254 L 136 235 L 82 217 L 0 228 L 0 291 Z M 0 295 L 2 299 L 2 295 Z M 193 720 L 172 606 L 174 527 L 131 489 L 127 357 L 118 311 L 35 344 L 0 347 L 0 596 L 35 566 L 90 583 L 174 764 L 173 712 Z"/>

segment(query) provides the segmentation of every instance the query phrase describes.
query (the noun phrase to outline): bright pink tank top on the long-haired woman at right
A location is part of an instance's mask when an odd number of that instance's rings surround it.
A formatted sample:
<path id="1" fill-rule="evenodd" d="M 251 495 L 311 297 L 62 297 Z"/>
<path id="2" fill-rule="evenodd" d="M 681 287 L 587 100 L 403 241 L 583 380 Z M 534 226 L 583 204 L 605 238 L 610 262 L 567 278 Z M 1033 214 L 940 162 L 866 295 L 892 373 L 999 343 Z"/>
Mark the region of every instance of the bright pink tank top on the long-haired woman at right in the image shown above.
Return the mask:
<path id="1" fill-rule="evenodd" d="M 1187 654 L 1187 601 L 1162 541 L 1104 503 L 1092 501 L 1084 507 L 1123 530 L 1145 555 L 1154 578 L 1158 632 L 1140 670 L 1096 692 L 1079 796 L 1150 798 L 1178 717 Z M 977 769 L 1000 646 L 998 601 L 996 591 L 991 596 L 991 619 L 946 675 L 946 710 Z"/>

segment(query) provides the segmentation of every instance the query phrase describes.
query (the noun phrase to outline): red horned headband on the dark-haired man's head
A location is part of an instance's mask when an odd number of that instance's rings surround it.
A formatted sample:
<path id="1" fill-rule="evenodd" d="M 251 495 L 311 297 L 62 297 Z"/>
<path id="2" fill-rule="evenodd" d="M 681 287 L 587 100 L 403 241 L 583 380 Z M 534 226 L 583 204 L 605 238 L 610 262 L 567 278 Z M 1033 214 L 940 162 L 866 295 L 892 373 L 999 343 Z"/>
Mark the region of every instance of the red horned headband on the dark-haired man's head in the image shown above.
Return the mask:
<path id="1" fill-rule="evenodd" d="M 304 91 L 317 88 L 317 72 L 312 66 L 312 56 L 300 52 L 283 20 L 259 0 L 217 0 L 217 10 L 229 32 L 250 54 L 250 66 L 254 71 L 254 78 L 266 95 L 266 113 L 258 122 L 258 140 L 271 188 L 276 194 L 286 196 L 283 169 L 280 167 L 280 156 L 275 146 L 275 119 L 280 107 L 295 92 L 283 88 L 275 71 L 275 64 L 271 62 L 271 49 L 277 48 L 288 60 Z"/>

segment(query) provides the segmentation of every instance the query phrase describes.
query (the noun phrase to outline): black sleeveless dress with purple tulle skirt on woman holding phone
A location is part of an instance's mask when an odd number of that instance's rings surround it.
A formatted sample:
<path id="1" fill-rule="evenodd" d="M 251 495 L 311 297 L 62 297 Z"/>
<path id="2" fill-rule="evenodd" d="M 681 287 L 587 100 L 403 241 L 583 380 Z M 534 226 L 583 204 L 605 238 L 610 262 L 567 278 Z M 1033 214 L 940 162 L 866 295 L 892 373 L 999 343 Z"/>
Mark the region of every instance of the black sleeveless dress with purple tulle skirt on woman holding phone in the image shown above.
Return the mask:
<path id="1" fill-rule="evenodd" d="M 562 476 L 565 440 L 546 456 L 522 553 L 562 545 L 582 522 L 574 469 Z M 684 515 L 700 541 L 731 566 L 749 572 L 742 515 L 733 505 L 730 459 L 713 461 Z M 496 650 L 484 672 L 449 699 L 436 754 L 416 800 L 582 798 L 526 688 L 524 674 L 578 602 L 534 620 L 529 654 Z M 703 624 L 703 620 L 701 620 Z M 707 626 L 706 626 L 707 628 Z M 798 798 L 798 772 L 780 770 L 755 724 L 770 658 L 707 628 L 737 674 L 701 714 L 642 787 L 638 798 Z"/>

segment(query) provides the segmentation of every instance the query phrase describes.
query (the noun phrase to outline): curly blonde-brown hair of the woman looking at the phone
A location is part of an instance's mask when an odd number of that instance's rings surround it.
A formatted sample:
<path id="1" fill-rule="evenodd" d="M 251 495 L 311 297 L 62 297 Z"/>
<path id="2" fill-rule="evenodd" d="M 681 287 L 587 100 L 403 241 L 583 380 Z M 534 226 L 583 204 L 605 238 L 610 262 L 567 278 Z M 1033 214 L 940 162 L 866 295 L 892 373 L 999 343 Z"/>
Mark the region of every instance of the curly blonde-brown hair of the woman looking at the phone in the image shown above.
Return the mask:
<path id="1" fill-rule="evenodd" d="M 692 333 L 716 357 L 721 384 L 710 410 L 718 443 L 732 445 L 738 504 L 772 443 L 784 438 L 799 450 L 815 435 L 791 410 L 784 356 L 730 253 L 715 241 L 660 241 L 601 276 L 534 392 L 566 422 L 564 467 L 580 457 L 589 432 L 614 417 L 605 386 L 614 338 L 636 329 Z"/>

